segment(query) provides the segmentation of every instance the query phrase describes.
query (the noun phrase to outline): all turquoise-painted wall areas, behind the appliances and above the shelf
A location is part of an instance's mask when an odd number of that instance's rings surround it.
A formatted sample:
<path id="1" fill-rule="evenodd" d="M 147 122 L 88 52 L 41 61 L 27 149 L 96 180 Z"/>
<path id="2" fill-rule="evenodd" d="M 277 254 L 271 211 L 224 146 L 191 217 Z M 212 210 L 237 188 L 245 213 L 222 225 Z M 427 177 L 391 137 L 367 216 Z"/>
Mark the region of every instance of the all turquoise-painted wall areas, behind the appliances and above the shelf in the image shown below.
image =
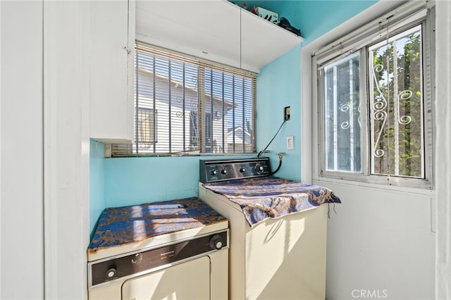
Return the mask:
<path id="1" fill-rule="evenodd" d="M 235 1 L 240 2 L 240 1 Z M 247 1 L 277 11 L 302 30 L 303 45 L 340 25 L 376 1 Z M 301 45 L 302 46 L 302 45 Z M 257 149 L 263 149 L 283 122 L 283 107 L 291 107 L 291 120 L 265 154 L 272 168 L 276 153 L 286 152 L 277 174 L 302 180 L 301 174 L 301 46 L 261 69 L 257 79 Z M 310 101 L 310 99 L 305 99 Z M 305 129 L 306 132 L 309 128 Z M 295 137 L 295 150 L 287 151 L 286 137 Z M 235 156 L 234 156 L 235 157 Z M 214 157 L 206 156 L 214 159 Z M 90 227 L 103 208 L 198 195 L 201 157 L 103 158 L 103 144 L 91 142 Z"/>

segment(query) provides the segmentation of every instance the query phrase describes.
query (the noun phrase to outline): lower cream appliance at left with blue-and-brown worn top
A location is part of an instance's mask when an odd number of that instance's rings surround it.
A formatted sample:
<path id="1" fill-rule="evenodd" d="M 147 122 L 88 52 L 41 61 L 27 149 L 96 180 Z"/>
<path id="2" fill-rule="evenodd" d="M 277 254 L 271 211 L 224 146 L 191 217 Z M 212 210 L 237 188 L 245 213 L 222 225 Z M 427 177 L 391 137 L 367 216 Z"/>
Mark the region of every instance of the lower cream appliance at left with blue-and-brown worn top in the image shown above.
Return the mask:
<path id="1" fill-rule="evenodd" d="M 88 297 L 228 299 L 228 220 L 197 198 L 106 208 L 87 250 Z"/>

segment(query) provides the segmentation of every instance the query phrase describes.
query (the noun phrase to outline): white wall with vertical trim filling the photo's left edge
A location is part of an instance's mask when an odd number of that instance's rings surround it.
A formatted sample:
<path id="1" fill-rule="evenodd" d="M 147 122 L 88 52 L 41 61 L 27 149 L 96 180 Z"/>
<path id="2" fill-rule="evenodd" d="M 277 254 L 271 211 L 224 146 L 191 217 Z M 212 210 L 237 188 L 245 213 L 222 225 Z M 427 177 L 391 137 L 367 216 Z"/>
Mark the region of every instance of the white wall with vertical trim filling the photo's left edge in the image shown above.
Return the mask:
<path id="1" fill-rule="evenodd" d="M 86 299 L 89 2 L 0 3 L 0 298 Z"/>

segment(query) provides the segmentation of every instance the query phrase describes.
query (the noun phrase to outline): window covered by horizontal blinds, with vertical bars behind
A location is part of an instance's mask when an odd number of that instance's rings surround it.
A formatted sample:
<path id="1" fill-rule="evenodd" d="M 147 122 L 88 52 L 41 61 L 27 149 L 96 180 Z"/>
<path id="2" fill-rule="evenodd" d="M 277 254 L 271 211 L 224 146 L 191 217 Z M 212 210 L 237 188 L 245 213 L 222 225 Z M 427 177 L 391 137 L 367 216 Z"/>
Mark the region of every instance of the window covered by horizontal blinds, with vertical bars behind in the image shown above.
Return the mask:
<path id="1" fill-rule="evenodd" d="M 132 154 L 255 153 L 256 77 L 137 43 Z"/>

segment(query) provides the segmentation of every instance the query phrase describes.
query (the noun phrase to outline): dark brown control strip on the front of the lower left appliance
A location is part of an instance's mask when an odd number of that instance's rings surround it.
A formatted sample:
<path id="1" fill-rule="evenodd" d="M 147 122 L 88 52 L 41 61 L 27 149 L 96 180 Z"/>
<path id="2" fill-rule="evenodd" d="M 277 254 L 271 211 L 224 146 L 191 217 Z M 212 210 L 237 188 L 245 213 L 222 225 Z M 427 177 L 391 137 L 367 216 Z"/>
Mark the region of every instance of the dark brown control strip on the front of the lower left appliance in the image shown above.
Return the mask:
<path id="1" fill-rule="evenodd" d="M 113 280 L 151 273 L 174 263 L 188 261 L 228 247 L 228 230 L 213 232 L 166 244 L 154 249 L 143 249 L 120 257 L 104 258 L 88 263 L 89 289 Z"/>

